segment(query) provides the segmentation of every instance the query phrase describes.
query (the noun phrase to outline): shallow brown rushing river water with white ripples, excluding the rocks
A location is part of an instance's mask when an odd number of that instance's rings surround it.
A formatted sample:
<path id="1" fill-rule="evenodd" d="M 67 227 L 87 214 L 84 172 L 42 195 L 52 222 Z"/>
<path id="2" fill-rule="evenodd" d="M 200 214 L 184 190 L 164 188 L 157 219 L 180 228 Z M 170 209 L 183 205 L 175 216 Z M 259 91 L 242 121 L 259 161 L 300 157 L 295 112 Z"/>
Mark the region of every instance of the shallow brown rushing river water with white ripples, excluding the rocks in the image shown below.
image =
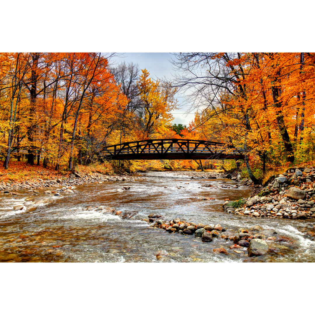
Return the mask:
<path id="1" fill-rule="evenodd" d="M 189 183 L 189 184 L 186 184 Z M 212 187 L 201 187 L 211 183 Z M 252 218 L 227 214 L 223 200 L 247 197 L 252 188 L 223 188 L 229 179 L 191 179 L 180 172 L 151 172 L 135 182 L 104 182 L 77 186 L 61 197 L 29 192 L 0 196 L 0 261 L 43 262 L 306 262 L 315 261 L 315 242 L 301 230 L 309 220 Z M 123 186 L 130 190 L 116 192 Z M 167 188 L 164 188 L 167 186 Z M 61 186 L 60 186 L 61 187 Z M 180 189 L 179 189 L 180 188 Z M 204 200 L 214 197 L 215 200 Z M 37 203 L 37 204 L 35 204 Z M 13 210 L 15 205 L 25 205 Z M 93 206 L 89 207 L 88 206 Z M 96 207 L 102 206 L 102 207 Z M 122 215 L 114 215 L 122 211 Z M 293 240 L 270 254 L 249 258 L 234 252 L 221 238 L 205 243 L 194 235 L 154 229 L 143 218 L 150 213 L 237 230 L 260 225 Z M 285 245 L 285 246 L 284 246 Z M 224 247 L 228 255 L 216 254 Z"/>

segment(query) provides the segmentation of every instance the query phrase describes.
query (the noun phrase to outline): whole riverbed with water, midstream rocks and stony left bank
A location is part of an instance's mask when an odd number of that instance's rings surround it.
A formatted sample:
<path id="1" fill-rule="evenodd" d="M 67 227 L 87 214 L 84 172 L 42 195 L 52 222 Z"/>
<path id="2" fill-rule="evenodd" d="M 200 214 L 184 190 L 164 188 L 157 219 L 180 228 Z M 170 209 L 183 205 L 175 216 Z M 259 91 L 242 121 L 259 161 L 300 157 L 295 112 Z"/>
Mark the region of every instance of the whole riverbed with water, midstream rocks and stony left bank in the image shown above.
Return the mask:
<path id="1" fill-rule="evenodd" d="M 80 176 L 0 183 L 0 261 L 315 259 L 307 220 L 288 224 L 222 211 L 224 199 L 255 189 L 225 174 Z"/>

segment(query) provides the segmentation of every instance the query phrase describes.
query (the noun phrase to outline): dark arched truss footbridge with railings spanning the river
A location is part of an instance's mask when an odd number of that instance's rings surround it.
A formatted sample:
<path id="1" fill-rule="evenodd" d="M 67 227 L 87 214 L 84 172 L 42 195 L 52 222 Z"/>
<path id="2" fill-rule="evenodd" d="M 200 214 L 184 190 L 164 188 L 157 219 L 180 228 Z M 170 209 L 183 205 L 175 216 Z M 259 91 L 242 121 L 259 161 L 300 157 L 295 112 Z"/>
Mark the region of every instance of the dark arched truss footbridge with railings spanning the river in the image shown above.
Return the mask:
<path id="1" fill-rule="evenodd" d="M 244 159 L 233 146 L 190 139 L 148 139 L 107 146 L 112 160 L 226 160 Z"/>

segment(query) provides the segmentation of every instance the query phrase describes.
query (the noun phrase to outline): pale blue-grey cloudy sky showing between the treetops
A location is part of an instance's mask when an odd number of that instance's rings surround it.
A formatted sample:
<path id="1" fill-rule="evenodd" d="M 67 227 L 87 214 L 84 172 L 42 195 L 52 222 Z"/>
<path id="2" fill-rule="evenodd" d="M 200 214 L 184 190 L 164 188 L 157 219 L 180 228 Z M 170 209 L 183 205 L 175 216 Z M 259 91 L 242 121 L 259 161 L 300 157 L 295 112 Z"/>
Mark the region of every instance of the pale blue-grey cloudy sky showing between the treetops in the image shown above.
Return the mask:
<path id="1" fill-rule="evenodd" d="M 170 53 L 119 53 L 119 57 L 113 57 L 112 62 L 123 62 L 126 63 L 133 62 L 137 63 L 140 69 L 145 69 L 150 72 L 150 77 L 152 79 L 157 79 L 161 77 L 167 77 L 172 79 L 172 64 L 169 61 L 172 58 Z M 172 113 L 174 116 L 173 123 L 188 125 L 194 117 L 194 113 L 188 113 L 187 106 L 185 105 L 186 101 L 177 94 L 175 97 L 178 100 L 178 110 L 175 110 Z"/>

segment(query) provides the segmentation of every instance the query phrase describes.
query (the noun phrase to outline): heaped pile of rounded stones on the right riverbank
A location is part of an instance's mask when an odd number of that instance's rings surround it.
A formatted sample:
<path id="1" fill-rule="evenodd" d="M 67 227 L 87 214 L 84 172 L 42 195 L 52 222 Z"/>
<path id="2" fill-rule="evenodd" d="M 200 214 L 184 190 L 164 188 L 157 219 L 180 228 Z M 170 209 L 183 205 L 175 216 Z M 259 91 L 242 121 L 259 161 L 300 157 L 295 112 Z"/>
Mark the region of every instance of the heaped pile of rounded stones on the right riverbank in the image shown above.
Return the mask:
<path id="1" fill-rule="evenodd" d="M 225 201 L 223 209 L 228 213 L 260 218 L 314 219 L 314 189 L 314 166 L 292 167 L 285 173 L 273 175 L 258 195 L 243 198 L 243 207 L 234 208 L 231 201 Z"/>

